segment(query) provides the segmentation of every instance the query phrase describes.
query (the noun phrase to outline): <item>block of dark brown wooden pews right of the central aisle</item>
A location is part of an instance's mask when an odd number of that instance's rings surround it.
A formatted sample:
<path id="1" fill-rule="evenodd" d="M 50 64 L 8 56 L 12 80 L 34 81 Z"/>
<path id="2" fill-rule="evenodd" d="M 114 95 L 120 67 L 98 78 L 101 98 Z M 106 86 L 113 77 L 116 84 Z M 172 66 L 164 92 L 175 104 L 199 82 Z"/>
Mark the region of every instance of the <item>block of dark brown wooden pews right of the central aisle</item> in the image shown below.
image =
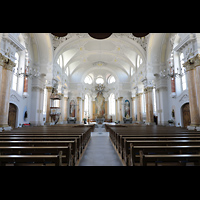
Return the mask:
<path id="1" fill-rule="evenodd" d="M 143 124 L 105 127 L 125 166 L 200 165 L 200 134 L 196 131 Z"/>

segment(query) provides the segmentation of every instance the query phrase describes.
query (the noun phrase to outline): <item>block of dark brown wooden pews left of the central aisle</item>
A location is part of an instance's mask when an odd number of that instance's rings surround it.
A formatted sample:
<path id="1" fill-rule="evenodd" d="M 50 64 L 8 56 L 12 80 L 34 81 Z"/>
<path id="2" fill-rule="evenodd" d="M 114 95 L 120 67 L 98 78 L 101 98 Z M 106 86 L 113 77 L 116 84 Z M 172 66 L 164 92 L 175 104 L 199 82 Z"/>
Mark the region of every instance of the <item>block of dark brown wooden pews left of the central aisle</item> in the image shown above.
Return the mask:
<path id="1" fill-rule="evenodd" d="M 59 124 L 0 134 L 0 166 L 76 166 L 94 125 Z"/>

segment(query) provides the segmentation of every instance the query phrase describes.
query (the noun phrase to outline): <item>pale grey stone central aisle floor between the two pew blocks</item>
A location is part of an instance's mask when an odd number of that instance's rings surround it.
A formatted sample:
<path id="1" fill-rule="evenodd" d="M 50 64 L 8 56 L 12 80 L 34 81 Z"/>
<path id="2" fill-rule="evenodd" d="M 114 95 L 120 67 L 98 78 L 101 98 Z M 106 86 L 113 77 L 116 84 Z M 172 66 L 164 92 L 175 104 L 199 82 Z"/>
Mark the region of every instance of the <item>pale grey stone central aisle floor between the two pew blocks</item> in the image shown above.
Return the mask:
<path id="1" fill-rule="evenodd" d="M 123 166 L 110 139 L 108 132 L 96 128 L 79 163 L 79 166 Z M 105 130 L 105 129 L 104 129 Z"/>

